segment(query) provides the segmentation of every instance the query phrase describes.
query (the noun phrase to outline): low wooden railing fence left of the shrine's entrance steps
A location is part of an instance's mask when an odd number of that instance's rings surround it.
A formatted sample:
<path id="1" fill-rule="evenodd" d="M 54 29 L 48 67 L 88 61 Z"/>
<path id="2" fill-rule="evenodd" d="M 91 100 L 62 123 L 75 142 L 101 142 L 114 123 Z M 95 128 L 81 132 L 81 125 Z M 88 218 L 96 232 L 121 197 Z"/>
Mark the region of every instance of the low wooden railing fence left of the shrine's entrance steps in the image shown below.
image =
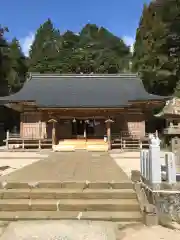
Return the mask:
<path id="1" fill-rule="evenodd" d="M 38 139 L 32 137 L 23 137 L 21 138 L 19 133 L 10 133 L 7 131 L 6 133 L 6 139 L 4 140 L 6 143 L 7 149 L 16 149 L 16 148 L 29 148 L 29 147 L 35 147 L 35 148 L 52 148 L 52 139 Z"/>

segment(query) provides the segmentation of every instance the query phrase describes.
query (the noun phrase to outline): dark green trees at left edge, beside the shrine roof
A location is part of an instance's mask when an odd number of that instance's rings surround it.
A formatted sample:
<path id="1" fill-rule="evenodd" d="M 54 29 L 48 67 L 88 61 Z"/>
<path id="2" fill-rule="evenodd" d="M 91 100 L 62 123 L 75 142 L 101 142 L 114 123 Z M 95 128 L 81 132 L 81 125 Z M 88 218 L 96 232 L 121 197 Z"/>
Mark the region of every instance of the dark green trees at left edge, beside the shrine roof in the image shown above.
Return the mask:
<path id="1" fill-rule="evenodd" d="M 4 34 L 7 28 L 0 27 L 0 95 L 18 91 L 28 71 L 26 59 L 17 39 L 7 42 Z"/>

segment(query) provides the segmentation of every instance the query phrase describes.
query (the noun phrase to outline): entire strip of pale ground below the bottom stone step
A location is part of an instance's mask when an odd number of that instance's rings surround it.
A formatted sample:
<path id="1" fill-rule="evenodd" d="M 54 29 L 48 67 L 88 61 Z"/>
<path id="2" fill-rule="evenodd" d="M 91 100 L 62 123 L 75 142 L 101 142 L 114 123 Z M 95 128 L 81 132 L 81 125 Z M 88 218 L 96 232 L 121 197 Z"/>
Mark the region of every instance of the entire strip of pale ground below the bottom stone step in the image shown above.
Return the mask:
<path id="1" fill-rule="evenodd" d="M 0 228 L 1 229 L 1 228 Z M 4 232 L 4 233 L 3 233 Z M 137 225 L 116 231 L 110 222 L 13 222 L 0 231 L 0 240 L 179 240 L 180 231 L 161 226 Z"/>

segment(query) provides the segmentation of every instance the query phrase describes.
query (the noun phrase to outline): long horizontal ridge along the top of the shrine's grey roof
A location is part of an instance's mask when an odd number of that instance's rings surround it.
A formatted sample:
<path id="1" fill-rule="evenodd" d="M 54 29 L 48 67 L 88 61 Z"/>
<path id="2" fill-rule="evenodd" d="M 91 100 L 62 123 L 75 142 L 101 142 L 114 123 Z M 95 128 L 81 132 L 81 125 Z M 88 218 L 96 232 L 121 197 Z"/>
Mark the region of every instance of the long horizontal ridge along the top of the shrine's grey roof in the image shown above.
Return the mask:
<path id="1" fill-rule="evenodd" d="M 118 74 L 48 74 L 48 73 L 30 73 L 29 74 L 29 79 L 32 78 L 70 78 L 70 77 L 82 77 L 82 78 L 109 78 L 109 77 L 113 77 L 113 78 L 136 78 L 139 77 L 138 74 L 135 73 L 118 73 Z"/>

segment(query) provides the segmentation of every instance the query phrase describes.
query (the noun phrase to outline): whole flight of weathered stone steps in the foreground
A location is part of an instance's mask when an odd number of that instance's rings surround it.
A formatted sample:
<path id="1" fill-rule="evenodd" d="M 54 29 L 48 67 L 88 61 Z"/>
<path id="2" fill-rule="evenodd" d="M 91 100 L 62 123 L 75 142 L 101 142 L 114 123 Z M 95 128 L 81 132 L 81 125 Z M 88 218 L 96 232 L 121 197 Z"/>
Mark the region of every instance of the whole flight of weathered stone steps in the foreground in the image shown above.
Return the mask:
<path id="1" fill-rule="evenodd" d="M 1 182 L 0 220 L 141 222 L 131 182 Z"/>

